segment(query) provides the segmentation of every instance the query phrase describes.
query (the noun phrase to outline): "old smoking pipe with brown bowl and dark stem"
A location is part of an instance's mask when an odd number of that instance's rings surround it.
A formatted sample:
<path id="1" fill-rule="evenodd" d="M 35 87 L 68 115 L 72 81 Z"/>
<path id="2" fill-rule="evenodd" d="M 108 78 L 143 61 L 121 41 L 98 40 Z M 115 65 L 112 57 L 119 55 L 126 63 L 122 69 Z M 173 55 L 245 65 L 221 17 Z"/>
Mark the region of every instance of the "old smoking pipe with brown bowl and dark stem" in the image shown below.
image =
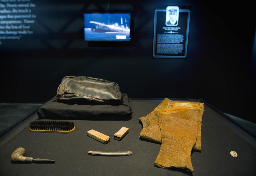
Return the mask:
<path id="1" fill-rule="evenodd" d="M 26 150 L 22 147 L 17 148 L 11 154 L 11 159 L 13 161 L 23 161 L 23 162 L 55 162 L 55 160 L 51 159 L 41 159 L 41 158 L 32 158 L 32 157 L 25 157 Z"/>

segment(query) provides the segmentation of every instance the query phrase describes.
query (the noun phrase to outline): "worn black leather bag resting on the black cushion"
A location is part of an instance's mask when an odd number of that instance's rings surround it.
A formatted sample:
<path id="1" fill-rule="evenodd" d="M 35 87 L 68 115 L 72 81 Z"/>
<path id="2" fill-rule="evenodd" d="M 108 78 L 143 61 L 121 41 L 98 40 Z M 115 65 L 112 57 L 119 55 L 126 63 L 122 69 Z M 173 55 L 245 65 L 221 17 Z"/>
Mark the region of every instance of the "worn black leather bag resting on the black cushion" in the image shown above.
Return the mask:
<path id="1" fill-rule="evenodd" d="M 123 96 L 117 83 L 86 76 L 66 76 L 58 87 L 57 101 L 119 105 L 123 103 Z"/>

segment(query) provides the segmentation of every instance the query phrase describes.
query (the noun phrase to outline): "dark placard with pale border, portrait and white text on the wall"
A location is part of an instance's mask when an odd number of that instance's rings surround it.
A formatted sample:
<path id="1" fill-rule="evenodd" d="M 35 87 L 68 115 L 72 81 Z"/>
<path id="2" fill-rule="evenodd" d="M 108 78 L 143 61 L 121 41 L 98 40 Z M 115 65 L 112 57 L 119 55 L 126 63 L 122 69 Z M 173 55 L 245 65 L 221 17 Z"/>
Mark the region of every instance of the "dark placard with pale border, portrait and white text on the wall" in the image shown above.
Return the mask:
<path id="1" fill-rule="evenodd" d="M 155 10 L 153 57 L 186 58 L 189 19 L 190 10 L 178 6 Z"/>

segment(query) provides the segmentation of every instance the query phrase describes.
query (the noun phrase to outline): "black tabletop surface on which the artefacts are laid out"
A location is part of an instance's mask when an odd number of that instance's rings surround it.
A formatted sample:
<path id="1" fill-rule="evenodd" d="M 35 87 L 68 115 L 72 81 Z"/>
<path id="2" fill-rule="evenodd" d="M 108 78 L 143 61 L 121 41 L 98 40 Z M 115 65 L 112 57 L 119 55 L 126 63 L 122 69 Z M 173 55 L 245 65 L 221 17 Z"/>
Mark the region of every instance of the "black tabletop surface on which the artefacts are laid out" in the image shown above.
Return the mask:
<path id="1" fill-rule="evenodd" d="M 30 132 L 29 123 L 38 118 L 34 113 L 0 138 L 0 175 L 256 175 L 256 139 L 207 105 L 202 117 L 202 151 L 191 152 L 194 172 L 154 166 L 161 144 L 139 139 L 142 125 L 138 118 L 161 101 L 130 99 L 130 120 L 70 120 L 76 130 L 68 134 Z M 121 141 L 114 140 L 123 126 L 129 133 Z M 110 136 L 110 142 L 102 144 L 87 136 L 91 129 Z M 14 162 L 11 154 L 18 147 L 26 149 L 25 156 L 56 162 Z M 132 154 L 95 156 L 88 155 L 89 150 L 130 150 Z M 238 157 L 230 155 L 232 150 Z"/>

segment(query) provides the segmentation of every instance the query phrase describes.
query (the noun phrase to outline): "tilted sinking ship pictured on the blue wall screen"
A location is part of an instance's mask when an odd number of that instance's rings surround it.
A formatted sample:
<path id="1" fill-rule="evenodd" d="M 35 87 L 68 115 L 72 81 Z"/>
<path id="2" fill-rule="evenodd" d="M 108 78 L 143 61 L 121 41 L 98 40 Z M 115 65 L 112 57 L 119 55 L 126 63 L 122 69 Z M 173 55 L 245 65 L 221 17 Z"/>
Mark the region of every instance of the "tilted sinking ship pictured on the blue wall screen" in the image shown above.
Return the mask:
<path id="1" fill-rule="evenodd" d="M 103 24 L 95 21 L 90 21 L 89 23 L 95 25 L 95 28 L 91 28 L 91 31 L 93 32 L 130 32 L 128 26 L 124 27 L 123 24 L 120 27 L 118 26 L 118 23 L 113 25 Z"/>

